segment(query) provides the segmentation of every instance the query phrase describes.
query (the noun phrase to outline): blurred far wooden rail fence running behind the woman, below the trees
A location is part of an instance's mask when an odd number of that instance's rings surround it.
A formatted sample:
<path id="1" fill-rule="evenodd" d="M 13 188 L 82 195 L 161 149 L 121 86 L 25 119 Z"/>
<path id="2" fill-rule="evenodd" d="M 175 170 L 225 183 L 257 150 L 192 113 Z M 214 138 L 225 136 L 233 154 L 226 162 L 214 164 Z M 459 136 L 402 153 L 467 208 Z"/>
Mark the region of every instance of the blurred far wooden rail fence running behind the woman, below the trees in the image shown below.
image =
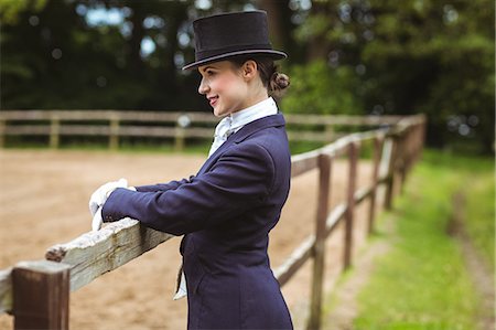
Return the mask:
<path id="1" fill-rule="evenodd" d="M 285 115 L 293 141 L 331 142 L 344 134 L 336 127 L 393 125 L 400 116 Z M 172 139 L 181 151 L 187 139 L 212 139 L 218 118 L 206 113 L 159 113 L 125 110 L 2 110 L 0 148 L 7 137 L 47 137 L 51 148 L 61 138 L 106 137 L 110 149 L 122 138 Z"/>

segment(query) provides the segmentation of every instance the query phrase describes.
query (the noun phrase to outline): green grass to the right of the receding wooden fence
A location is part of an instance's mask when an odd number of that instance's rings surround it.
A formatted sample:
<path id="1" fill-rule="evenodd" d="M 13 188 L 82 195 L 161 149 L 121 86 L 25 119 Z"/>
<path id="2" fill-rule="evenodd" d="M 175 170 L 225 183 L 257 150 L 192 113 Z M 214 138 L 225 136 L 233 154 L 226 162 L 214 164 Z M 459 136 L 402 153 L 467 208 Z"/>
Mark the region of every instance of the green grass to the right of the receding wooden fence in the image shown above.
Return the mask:
<path id="1" fill-rule="evenodd" d="M 492 160 L 425 152 L 396 201 L 392 249 L 359 294 L 354 329 L 476 329 L 479 297 L 446 226 L 452 194 L 462 190 L 468 231 L 494 255 L 492 174 Z"/>

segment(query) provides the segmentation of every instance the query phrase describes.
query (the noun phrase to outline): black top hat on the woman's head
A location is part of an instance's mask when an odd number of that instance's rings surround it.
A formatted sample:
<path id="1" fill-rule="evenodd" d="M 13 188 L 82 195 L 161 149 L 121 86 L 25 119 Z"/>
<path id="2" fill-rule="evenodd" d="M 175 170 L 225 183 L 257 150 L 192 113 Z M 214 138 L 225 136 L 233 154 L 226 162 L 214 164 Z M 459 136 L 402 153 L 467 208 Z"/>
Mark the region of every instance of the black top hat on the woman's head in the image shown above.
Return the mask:
<path id="1" fill-rule="evenodd" d="M 269 41 L 267 13 L 246 11 L 222 13 L 193 22 L 195 62 L 183 70 L 245 54 L 258 54 L 281 60 L 288 55 L 272 50 Z"/>

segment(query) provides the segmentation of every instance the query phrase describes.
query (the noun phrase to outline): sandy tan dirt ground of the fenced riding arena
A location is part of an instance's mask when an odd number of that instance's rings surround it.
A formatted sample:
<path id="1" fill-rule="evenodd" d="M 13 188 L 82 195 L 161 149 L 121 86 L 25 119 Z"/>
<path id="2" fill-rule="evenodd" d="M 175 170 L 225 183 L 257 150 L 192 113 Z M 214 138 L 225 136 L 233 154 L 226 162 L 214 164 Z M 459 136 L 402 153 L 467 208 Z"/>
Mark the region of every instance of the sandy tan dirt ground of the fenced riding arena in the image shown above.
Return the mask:
<path id="1" fill-rule="evenodd" d="M 46 248 L 90 230 L 88 199 L 100 184 L 127 178 L 131 185 L 166 182 L 196 173 L 202 156 L 148 155 L 107 151 L 0 151 L 0 269 L 20 260 L 41 259 Z M 370 178 L 360 163 L 358 185 Z M 336 161 L 331 203 L 344 201 L 347 162 Z M 272 268 L 313 232 L 317 172 L 293 179 L 281 220 L 270 236 Z M 355 252 L 366 236 L 368 203 L 358 207 Z M 344 231 L 338 227 L 326 244 L 325 290 L 342 269 Z M 72 329 L 185 329 L 186 300 L 173 301 L 180 265 L 180 238 L 165 242 L 138 259 L 100 276 L 71 294 Z M 311 263 L 283 288 L 296 329 L 304 328 L 311 285 Z M 0 316 L 0 329 L 12 318 Z"/>

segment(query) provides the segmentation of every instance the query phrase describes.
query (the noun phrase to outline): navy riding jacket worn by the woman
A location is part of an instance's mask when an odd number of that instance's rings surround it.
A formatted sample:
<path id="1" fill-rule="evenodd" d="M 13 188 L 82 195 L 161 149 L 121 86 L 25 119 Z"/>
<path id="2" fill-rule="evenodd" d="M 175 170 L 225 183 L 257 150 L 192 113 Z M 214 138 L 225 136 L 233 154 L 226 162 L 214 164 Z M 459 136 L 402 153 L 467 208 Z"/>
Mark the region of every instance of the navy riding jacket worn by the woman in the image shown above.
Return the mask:
<path id="1" fill-rule="evenodd" d="M 269 232 L 288 198 L 281 114 L 247 124 L 182 181 L 114 191 L 104 221 L 126 216 L 181 242 L 188 329 L 292 329 L 270 269 Z"/>

